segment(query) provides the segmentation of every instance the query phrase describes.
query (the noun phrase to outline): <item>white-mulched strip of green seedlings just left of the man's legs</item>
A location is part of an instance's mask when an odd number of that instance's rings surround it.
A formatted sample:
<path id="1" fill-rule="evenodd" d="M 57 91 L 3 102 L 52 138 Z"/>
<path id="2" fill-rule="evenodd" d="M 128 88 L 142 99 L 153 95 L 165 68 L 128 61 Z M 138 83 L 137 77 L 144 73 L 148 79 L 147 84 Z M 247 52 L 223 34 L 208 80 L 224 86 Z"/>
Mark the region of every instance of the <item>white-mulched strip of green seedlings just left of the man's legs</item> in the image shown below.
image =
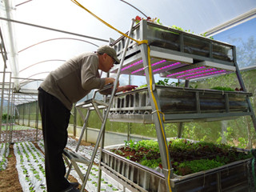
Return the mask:
<path id="1" fill-rule="evenodd" d="M 14 144 L 16 168 L 23 191 L 46 191 L 44 155 L 32 142 Z"/>

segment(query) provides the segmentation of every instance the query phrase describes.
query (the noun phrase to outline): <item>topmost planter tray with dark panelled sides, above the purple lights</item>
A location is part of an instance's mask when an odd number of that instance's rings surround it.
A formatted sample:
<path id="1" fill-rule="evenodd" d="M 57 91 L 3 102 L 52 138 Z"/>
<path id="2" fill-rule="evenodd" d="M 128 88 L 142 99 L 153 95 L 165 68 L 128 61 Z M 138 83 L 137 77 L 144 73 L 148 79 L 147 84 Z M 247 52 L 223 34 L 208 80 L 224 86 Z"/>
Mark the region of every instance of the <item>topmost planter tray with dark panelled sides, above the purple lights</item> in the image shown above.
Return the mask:
<path id="1" fill-rule="evenodd" d="M 181 30 L 174 30 L 169 26 L 158 25 L 153 22 L 142 21 L 134 26 L 130 36 L 135 39 L 148 40 L 150 46 L 157 46 L 167 50 L 194 54 L 206 58 L 233 62 L 234 46 L 204 38 L 198 34 L 191 34 Z M 111 43 L 120 55 L 125 46 L 125 37 L 122 36 Z M 130 41 L 130 47 L 137 46 Z"/>

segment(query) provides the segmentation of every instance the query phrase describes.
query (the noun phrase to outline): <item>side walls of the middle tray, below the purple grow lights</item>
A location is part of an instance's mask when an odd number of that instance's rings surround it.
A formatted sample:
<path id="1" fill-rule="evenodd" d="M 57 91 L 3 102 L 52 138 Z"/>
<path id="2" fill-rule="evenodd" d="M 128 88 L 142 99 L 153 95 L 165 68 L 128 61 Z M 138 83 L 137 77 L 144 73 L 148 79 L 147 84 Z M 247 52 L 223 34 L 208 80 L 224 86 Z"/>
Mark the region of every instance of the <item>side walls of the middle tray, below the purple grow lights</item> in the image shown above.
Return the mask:
<path id="1" fill-rule="evenodd" d="M 242 91 L 200 90 L 155 86 L 166 122 L 214 121 L 250 115 Z M 148 88 L 117 94 L 110 108 L 110 121 L 154 123 Z"/>

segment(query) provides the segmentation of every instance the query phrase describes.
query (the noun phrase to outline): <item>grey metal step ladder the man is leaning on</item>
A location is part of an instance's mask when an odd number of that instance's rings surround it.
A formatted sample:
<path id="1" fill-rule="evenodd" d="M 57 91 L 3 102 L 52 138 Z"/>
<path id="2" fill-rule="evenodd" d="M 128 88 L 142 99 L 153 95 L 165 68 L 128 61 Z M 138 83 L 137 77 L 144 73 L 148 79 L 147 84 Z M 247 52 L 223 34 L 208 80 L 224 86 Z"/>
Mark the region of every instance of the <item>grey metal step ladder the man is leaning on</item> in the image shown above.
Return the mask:
<path id="1" fill-rule="evenodd" d="M 131 26 L 130 26 L 130 32 L 129 32 L 128 36 L 130 36 L 130 33 L 131 33 L 131 30 L 132 30 L 133 26 L 134 26 L 134 19 L 132 20 L 132 23 L 131 23 Z M 94 164 L 94 158 L 97 154 L 98 146 L 99 146 L 101 140 L 102 140 L 102 146 L 101 147 L 102 148 L 104 147 L 103 146 L 103 144 L 104 144 L 103 138 L 104 137 L 102 137 L 102 135 L 105 133 L 105 125 L 106 125 L 107 116 L 110 112 L 110 106 L 113 102 L 114 94 L 116 92 L 115 90 L 118 87 L 118 79 L 119 79 L 119 76 L 121 74 L 122 64 L 124 62 L 124 58 L 125 58 L 125 55 L 126 55 L 126 50 L 127 50 L 128 44 L 129 44 L 129 39 L 126 38 L 125 48 L 124 48 L 124 51 L 122 53 L 122 59 L 121 59 L 121 62 L 119 64 L 118 74 L 117 74 L 117 77 L 116 77 L 116 81 L 114 82 L 114 85 L 108 85 L 108 86 L 104 87 L 103 90 L 94 91 L 93 98 L 87 100 L 86 102 L 82 102 L 82 103 L 76 105 L 76 106 L 82 106 L 82 108 L 87 108 L 87 114 L 86 114 L 86 118 L 84 119 L 84 124 L 83 124 L 83 127 L 82 127 L 82 133 L 80 134 L 80 137 L 79 137 L 79 140 L 78 140 L 78 145 L 76 147 L 75 152 L 72 152 L 70 150 L 64 150 L 63 158 L 66 161 L 67 165 L 69 166 L 69 169 L 66 173 L 66 178 L 68 178 L 68 175 L 70 174 L 70 170 L 72 169 L 72 166 L 74 166 L 74 170 L 78 173 L 79 177 L 82 180 L 82 187 L 81 187 L 81 190 L 80 190 L 81 192 L 84 191 L 84 189 L 85 189 L 86 182 L 89 178 L 90 170 L 91 170 L 91 168 Z M 111 87 L 111 94 L 110 94 L 110 99 L 109 99 L 108 103 L 106 103 L 106 97 L 105 97 L 105 102 L 102 102 L 102 101 L 99 101 L 99 100 L 95 99 L 95 95 L 98 91 L 99 92 L 104 92 L 104 91 L 110 89 L 110 87 Z M 104 110 L 103 115 L 102 115 L 100 109 Z M 97 138 L 97 141 L 95 143 L 93 153 L 92 153 L 91 158 L 89 160 L 89 159 L 83 158 L 82 156 L 80 156 L 76 153 L 78 152 L 78 148 L 79 148 L 79 146 L 82 142 L 82 137 L 83 137 L 84 131 L 86 130 L 86 122 L 89 119 L 91 110 L 95 110 L 97 112 L 98 117 L 102 121 L 102 126 L 101 126 L 101 129 L 100 129 L 99 133 L 98 133 L 98 138 Z M 78 110 L 78 112 L 79 112 L 79 110 Z M 79 113 L 82 114 L 81 111 Z M 82 117 L 83 117 L 83 115 L 82 115 Z M 84 163 L 88 166 L 85 175 L 82 174 L 82 171 L 79 169 L 79 166 L 78 166 L 77 162 Z M 99 165 L 100 165 L 100 163 L 99 163 Z M 98 181 L 99 181 L 98 191 L 100 189 L 101 169 L 99 169 L 99 175 L 100 176 L 98 178 Z"/>

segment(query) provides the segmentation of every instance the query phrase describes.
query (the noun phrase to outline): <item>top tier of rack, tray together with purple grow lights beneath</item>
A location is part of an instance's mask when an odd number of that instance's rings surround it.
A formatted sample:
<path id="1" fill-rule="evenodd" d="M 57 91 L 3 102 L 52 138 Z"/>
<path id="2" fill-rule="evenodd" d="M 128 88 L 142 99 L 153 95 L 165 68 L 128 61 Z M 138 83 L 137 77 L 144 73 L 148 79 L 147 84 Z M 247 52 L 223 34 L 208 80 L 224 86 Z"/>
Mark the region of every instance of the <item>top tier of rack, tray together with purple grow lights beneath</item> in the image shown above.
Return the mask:
<path id="1" fill-rule="evenodd" d="M 198 63 L 202 65 L 202 62 L 205 62 L 207 68 L 204 69 L 205 67 L 202 67 L 202 72 L 200 73 L 206 74 L 206 76 L 226 74 L 236 70 L 234 46 L 224 42 L 174 30 L 145 20 L 134 26 L 130 36 L 134 39 L 148 40 L 153 74 L 162 73 L 162 77 L 180 78 L 180 75 L 170 74 L 183 71 L 182 68 L 184 66 L 194 69 Z M 111 43 L 119 58 L 122 56 L 125 41 L 126 38 L 122 36 Z M 209 71 L 214 72 L 213 70 L 217 72 L 208 73 Z M 110 73 L 117 72 L 118 66 L 110 71 Z M 166 74 L 164 74 L 165 72 Z M 145 75 L 140 47 L 131 40 L 126 51 L 121 74 Z M 190 78 L 202 78 L 202 76 L 194 75 Z"/>

